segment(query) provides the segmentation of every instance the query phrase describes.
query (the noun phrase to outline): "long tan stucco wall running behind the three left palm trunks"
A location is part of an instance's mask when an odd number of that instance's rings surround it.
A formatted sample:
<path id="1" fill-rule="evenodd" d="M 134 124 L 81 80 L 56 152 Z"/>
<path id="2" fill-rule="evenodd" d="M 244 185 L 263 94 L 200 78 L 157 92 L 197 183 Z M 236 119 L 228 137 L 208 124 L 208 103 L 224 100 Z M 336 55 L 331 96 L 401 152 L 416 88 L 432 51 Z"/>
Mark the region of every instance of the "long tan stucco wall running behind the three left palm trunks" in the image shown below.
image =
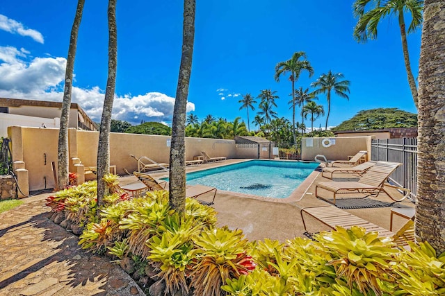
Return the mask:
<path id="1" fill-rule="evenodd" d="M 77 157 L 85 166 L 96 166 L 97 142 L 99 132 L 90 132 L 70 128 L 69 132 L 70 159 Z M 8 128 L 11 139 L 13 162 L 27 170 L 29 191 L 54 188 L 54 174 L 51 162 L 57 164 L 58 128 Z M 129 155 L 146 156 L 156 162 L 169 162 L 170 147 L 168 136 L 146 134 L 110 134 L 110 164 L 115 165 L 118 174 L 137 170 L 137 162 Z M 210 157 L 225 156 L 238 158 L 235 141 L 225 139 L 186 138 L 186 159 L 207 152 Z M 46 162 L 45 162 L 46 160 Z M 75 171 L 70 162 L 70 171 Z M 20 182 L 24 180 L 19 180 Z M 45 183 L 46 182 L 46 183 Z M 24 187 L 24 186 L 21 186 Z M 27 194 L 27 193 L 25 193 Z"/>

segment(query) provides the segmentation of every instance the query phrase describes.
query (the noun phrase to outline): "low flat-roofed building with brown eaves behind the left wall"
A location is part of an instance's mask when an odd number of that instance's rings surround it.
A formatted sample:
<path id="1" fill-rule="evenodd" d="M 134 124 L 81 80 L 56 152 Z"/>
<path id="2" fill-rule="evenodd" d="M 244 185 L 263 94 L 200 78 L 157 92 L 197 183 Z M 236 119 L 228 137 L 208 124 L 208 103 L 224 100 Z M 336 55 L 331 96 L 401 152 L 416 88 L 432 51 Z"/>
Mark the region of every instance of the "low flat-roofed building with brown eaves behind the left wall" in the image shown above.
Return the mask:
<path id="1" fill-rule="evenodd" d="M 8 136 L 8 126 L 60 128 L 61 102 L 0 98 L 0 136 Z M 69 128 L 97 130 L 82 108 L 71 104 Z"/>

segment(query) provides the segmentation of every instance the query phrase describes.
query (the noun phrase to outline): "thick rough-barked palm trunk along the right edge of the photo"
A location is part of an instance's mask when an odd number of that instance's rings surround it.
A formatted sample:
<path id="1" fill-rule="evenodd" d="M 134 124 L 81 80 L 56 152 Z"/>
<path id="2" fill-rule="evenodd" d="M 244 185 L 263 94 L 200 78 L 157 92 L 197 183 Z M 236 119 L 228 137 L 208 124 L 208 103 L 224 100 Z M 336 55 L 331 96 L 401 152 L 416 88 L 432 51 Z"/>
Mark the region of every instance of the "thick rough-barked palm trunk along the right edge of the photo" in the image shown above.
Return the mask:
<path id="1" fill-rule="evenodd" d="M 416 241 L 445 251 L 445 2 L 426 0 L 419 61 Z"/>

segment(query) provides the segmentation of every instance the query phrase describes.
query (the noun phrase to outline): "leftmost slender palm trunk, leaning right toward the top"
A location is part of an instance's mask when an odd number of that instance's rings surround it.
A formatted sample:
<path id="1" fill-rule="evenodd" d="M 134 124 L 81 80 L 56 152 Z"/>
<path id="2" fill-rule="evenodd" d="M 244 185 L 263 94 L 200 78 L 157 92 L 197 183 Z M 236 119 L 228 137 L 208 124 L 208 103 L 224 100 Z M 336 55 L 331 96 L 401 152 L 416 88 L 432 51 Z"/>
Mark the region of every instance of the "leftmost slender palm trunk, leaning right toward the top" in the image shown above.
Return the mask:
<path id="1" fill-rule="evenodd" d="M 70 46 L 68 47 L 67 67 L 65 69 L 65 88 L 63 89 L 62 114 L 60 115 L 60 130 L 58 132 L 58 188 L 64 189 L 68 184 L 68 123 L 70 123 L 72 72 L 76 58 L 77 35 L 81 24 L 83 4 L 85 0 L 77 1 L 76 15 L 71 28 Z"/>

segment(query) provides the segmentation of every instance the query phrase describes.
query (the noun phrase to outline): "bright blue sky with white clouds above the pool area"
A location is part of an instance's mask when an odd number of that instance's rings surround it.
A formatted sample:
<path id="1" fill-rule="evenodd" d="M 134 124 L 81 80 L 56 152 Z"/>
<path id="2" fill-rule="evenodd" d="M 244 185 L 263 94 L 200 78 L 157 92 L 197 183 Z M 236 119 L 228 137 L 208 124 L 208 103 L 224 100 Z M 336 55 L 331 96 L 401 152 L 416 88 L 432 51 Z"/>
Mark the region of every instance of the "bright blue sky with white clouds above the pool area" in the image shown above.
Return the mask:
<path id="1" fill-rule="evenodd" d="M 63 77 L 77 1 L 1 1 L 0 97 L 62 101 Z M 73 102 L 93 120 L 102 113 L 107 76 L 108 1 L 86 1 L 74 65 Z M 277 91 L 278 116 L 291 120 L 291 82 L 274 80 L 277 62 L 305 51 L 314 68 L 296 86 L 322 73 L 350 80 L 349 101 L 332 97 L 328 125 L 360 110 L 398 107 L 416 113 L 407 83 L 396 19 L 383 21 L 378 39 L 353 40 L 352 0 L 197 1 L 188 111 L 233 121 L 242 94 Z M 183 1 L 118 1 L 118 76 L 113 118 L 170 123 L 181 57 Z M 408 37 L 418 76 L 421 31 Z M 326 108 L 325 95 L 318 104 Z M 255 112 L 250 112 L 252 121 Z M 300 116 L 297 114 L 297 119 Z M 307 122 L 309 124 L 309 122 Z M 314 126 L 325 125 L 325 117 Z"/>

